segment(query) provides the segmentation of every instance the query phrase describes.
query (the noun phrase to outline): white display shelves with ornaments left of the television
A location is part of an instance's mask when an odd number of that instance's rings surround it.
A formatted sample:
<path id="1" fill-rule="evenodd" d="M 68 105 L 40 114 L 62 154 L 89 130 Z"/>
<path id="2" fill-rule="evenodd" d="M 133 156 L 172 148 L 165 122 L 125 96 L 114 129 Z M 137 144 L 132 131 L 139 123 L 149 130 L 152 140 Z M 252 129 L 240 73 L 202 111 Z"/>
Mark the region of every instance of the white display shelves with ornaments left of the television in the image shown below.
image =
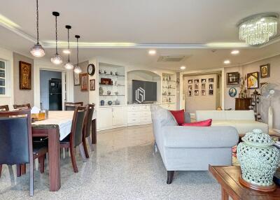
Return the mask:
<path id="1" fill-rule="evenodd" d="M 125 102 L 125 67 L 99 62 L 99 106 Z"/>

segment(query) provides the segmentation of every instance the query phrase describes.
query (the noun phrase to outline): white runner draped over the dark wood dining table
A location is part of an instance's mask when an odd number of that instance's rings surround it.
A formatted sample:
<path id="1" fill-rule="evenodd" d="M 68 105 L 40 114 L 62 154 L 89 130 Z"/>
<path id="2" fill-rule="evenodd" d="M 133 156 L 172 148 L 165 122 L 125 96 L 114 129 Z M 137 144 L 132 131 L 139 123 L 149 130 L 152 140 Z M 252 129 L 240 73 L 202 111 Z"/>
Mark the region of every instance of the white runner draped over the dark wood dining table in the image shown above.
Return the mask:
<path id="1" fill-rule="evenodd" d="M 62 141 L 71 132 L 71 124 L 73 120 L 73 111 L 49 111 L 48 120 L 42 120 L 32 123 L 32 125 L 58 125 L 59 140 Z M 92 115 L 92 120 L 96 119 L 96 111 Z"/>

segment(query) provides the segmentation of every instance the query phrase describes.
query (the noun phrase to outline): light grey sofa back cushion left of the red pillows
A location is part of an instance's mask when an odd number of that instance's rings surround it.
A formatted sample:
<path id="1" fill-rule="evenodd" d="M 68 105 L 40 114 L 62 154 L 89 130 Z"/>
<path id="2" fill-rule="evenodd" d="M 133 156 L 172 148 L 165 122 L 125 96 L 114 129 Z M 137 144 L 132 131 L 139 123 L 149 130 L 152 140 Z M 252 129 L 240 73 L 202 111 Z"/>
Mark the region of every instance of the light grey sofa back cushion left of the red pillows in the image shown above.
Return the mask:
<path id="1" fill-rule="evenodd" d="M 160 106 L 151 106 L 153 125 L 156 127 L 178 126 L 175 117 L 169 110 Z"/>

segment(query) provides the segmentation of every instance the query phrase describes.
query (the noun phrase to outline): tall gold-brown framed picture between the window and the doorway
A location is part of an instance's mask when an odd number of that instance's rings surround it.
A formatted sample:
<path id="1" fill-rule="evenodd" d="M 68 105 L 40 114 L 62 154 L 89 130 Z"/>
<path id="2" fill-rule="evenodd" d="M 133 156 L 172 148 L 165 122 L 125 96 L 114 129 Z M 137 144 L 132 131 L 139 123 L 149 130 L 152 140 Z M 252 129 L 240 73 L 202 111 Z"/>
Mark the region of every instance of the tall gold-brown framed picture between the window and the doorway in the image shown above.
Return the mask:
<path id="1" fill-rule="evenodd" d="M 31 90 L 31 64 L 20 61 L 20 90 Z"/>

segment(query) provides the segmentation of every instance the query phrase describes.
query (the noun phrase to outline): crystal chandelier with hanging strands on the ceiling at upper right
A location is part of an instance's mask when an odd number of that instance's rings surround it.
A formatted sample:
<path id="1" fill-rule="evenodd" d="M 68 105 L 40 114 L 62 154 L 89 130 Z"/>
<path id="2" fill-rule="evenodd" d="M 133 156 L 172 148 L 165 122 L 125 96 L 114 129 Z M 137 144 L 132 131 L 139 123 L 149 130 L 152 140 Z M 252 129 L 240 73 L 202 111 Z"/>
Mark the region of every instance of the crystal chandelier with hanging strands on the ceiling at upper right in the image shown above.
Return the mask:
<path id="1" fill-rule="evenodd" d="M 267 43 L 277 34 L 278 15 L 265 13 L 246 17 L 239 22 L 239 39 L 248 45 Z"/>

